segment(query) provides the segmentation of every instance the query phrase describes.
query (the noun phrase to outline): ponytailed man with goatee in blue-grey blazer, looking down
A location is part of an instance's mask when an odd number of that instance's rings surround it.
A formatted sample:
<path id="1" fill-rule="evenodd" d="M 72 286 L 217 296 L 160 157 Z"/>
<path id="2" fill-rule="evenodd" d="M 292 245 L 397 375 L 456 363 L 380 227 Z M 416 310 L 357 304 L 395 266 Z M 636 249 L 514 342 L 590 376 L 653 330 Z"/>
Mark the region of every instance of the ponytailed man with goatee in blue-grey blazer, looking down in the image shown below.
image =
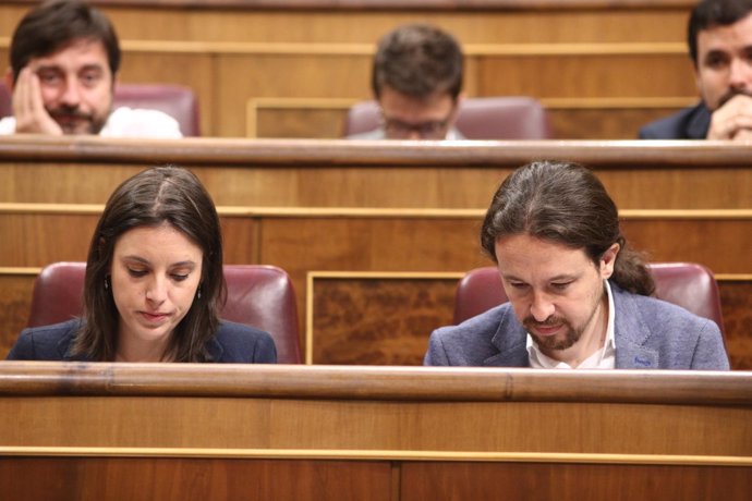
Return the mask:
<path id="1" fill-rule="evenodd" d="M 614 200 L 582 166 L 510 174 L 481 230 L 509 303 L 430 334 L 425 365 L 727 370 L 718 326 L 654 297 Z"/>

